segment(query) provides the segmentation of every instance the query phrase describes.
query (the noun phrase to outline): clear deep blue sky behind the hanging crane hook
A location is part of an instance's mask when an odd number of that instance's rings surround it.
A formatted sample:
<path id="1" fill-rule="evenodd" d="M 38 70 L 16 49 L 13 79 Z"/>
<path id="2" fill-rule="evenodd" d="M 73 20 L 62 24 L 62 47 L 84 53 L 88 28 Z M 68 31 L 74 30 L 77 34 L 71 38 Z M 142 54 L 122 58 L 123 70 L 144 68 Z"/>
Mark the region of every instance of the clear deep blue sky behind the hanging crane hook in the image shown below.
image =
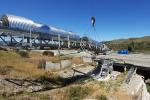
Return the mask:
<path id="1" fill-rule="evenodd" d="M 150 35 L 150 0 L 0 0 L 0 15 L 5 13 L 98 41 Z"/>

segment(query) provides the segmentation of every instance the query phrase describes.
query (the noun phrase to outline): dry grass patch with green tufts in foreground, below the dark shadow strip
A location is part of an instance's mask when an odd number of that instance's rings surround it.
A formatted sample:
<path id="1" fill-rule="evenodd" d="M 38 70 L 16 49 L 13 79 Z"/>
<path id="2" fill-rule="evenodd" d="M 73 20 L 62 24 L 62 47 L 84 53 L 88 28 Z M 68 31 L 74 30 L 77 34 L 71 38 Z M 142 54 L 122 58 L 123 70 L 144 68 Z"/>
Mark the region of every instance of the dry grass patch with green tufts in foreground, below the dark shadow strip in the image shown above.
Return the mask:
<path id="1" fill-rule="evenodd" d="M 124 75 L 120 75 L 116 81 L 108 82 L 98 82 L 89 79 L 84 82 L 74 83 L 61 89 L 43 93 L 50 95 L 54 100 L 107 100 L 108 98 L 114 98 L 115 100 L 132 100 L 130 95 L 120 89 L 123 76 Z"/>

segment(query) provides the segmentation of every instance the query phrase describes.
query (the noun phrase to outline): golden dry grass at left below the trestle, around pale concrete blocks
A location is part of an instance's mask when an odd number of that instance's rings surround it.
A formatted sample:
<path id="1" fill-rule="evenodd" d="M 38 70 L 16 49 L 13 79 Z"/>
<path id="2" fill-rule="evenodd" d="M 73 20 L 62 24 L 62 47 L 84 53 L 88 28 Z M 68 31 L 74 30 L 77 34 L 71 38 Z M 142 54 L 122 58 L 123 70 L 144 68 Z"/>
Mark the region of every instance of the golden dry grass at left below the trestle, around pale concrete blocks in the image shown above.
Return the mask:
<path id="1" fill-rule="evenodd" d="M 60 60 L 70 59 L 75 64 L 81 64 L 82 59 L 79 57 L 70 56 L 45 56 L 39 52 L 28 52 L 29 57 L 22 57 L 15 51 L 0 50 L 0 67 L 13 67 L 6 76 L 8 77 L 21 77 L 21 78 L 37 78 L 46 73 L 45 70 L 38 69 L 39 61 L 52 61 L 59 62 Z M 53 73 L 52 71 L 50 71 Z"/>

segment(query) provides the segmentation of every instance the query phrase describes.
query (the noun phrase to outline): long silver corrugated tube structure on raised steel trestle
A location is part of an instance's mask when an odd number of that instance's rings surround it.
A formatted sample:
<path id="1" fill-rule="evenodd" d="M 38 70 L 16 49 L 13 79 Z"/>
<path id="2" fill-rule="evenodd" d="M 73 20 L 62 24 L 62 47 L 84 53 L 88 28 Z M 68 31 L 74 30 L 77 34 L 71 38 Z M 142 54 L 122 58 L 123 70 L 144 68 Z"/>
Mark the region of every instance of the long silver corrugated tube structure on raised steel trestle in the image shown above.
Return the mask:
<path id="1" fill-rule="evenodd" d="M 0 17 L 0 39 L 5 45 L 13 47 L 101 50 L 104 46 L 88 37 L 9 14 Z"/>

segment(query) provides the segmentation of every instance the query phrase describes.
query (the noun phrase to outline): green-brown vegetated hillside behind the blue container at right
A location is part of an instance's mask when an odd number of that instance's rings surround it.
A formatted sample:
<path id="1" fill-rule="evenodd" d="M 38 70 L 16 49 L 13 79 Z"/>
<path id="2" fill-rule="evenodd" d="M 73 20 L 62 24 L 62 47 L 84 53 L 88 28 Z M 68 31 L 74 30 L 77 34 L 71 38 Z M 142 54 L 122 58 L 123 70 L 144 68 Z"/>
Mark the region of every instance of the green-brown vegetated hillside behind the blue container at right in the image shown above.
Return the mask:
<path id="1" fill-rule="evenodd" d="M 106 41 L 105 44 L 113 50 L 128 49 L 131 52 L 150 53 L 150 36 Z"/>

